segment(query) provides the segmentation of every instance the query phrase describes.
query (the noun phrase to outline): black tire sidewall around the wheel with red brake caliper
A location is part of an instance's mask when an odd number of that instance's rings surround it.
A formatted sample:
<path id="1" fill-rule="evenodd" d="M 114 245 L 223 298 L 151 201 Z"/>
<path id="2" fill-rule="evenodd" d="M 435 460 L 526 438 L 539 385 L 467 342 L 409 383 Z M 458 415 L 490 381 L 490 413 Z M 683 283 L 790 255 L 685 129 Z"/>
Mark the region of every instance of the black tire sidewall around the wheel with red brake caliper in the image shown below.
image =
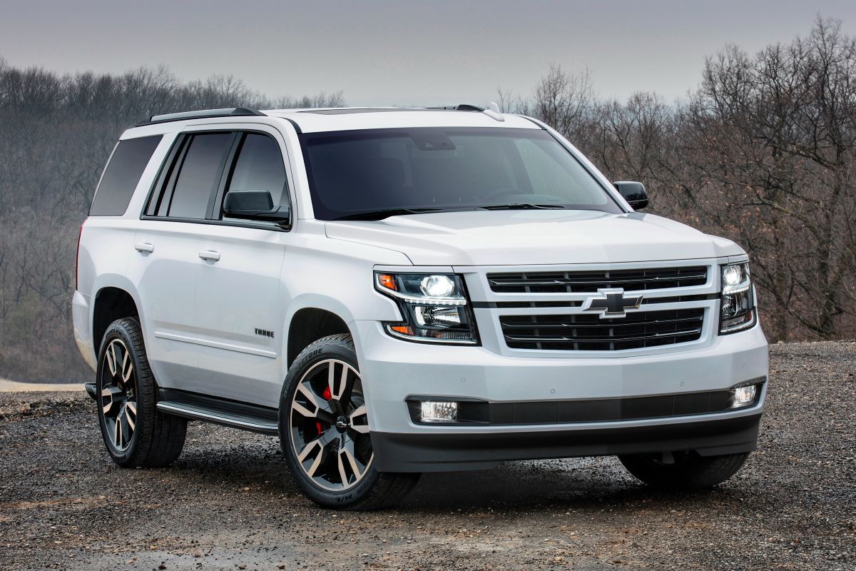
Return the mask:
<path id="1" fill-rule="evenodd" d="M 377 483 L 380 474 L 374 466 L 370 466 L 363 479 L 353 488 L 343 491 L 330 491 L 318 487 L 318 485 L 306 476 L 306 473 L 303 472 L 303 468 L 300 467 L 300 463 L 297 461 L 297 455 L 294 453 L 289 417 L 291 415 L 291 401 L 294 397 L 294 391 L 297 390 L 297 385 L 300 383 L 300 378 L 318 361 L 339 359 L 353 366 L 358 372 L 360 371 L 360 366 L 357 363 L 357 354 L 354 351 L 354 344 L 350 341 L 350 337 L 347 337 L 347 341 L 344 339 L 344 337 L 335 340 L 322 339 L 312 343 L 298 355 L 292 366 L 288 367 L 288 375 L 282 386 L 279 407 L 279 437 L 282 446 L 282 455 L 285 456 L 285 461 L 288 464 L 288 469 L 291 471 L 292 477 L 312 501 L 328 507 L 342 508 L 358 503 L 366 497 Z"/>

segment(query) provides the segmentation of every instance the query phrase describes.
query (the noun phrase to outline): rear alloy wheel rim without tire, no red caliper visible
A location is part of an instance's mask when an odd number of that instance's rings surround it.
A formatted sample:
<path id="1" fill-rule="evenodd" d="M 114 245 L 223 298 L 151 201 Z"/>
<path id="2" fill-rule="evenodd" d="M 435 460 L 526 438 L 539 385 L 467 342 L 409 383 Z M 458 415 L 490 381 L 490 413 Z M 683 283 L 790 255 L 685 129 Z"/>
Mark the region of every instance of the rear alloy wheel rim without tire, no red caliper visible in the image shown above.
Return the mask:
<path id="1" fill-rule="evenodd" d="M 121 339 L 110 341 L 104 354 L 100 402 L 107 436 L 116 449 L 128 449 L 137 424 L 137 376 Z"/>

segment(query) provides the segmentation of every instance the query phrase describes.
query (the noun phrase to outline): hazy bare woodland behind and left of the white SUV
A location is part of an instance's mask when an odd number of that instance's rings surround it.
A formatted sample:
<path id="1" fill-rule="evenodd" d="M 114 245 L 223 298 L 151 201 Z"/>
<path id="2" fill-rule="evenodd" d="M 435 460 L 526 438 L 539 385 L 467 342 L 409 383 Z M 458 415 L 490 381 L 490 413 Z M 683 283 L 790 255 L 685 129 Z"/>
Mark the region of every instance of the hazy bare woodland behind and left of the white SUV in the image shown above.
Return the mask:
<path id="1" fill-rule="evenodd" d="M 88 376 L 71 332 L 74 247 L 128 125 L 188 109 L 342 104 L 342 92 L 266 98 L 233 76 L 185 83 L 163 66 L 60 75 L 0 57 L 0 377 Z"/>

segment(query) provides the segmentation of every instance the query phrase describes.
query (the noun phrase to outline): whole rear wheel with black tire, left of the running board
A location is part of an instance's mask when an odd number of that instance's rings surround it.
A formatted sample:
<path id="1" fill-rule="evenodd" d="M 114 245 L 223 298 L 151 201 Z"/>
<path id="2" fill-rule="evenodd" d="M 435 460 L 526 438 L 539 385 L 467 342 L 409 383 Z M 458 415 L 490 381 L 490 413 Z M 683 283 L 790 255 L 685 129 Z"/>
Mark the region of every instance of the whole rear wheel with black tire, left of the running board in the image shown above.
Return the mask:
<path id="1" fill-rule="evenodd" d="M 160 467 L 178 458 L 187 420 L 158 411 L 158 384 L 136 319 L 118 319 L 104 333 L 95 388 L 104 446 L 116 464 Z"/>

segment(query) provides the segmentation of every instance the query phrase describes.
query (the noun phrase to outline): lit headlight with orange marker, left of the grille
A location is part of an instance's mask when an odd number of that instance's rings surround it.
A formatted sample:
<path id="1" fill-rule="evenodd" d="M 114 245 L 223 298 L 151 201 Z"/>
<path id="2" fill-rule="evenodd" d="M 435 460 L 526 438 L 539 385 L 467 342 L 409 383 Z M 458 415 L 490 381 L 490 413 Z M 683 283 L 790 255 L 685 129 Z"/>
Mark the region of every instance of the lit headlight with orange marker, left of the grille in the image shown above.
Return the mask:
<path id="1" fill-rule="evenodd" d="M 389 335 L 419 342 L 479 342 L 460 276 L 376 271 L 375 288 L 398 302 L 404 318 L 400 323 L 383 324 Z"/>

